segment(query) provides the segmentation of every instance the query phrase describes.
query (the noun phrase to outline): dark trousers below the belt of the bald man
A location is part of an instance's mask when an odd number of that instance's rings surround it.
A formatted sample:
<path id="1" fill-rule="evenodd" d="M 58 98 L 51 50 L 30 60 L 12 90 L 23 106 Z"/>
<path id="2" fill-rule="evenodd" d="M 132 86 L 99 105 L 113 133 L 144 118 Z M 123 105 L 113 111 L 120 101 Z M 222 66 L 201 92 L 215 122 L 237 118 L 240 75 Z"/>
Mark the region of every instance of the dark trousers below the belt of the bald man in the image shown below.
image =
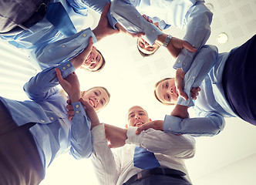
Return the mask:
<path id="1" fill-rule="evenodd" d="M 141 180 L 137 180 L 131 185 L 191 185 L 186 180 L 163 176 L 163 175 L 155 175 L 143 178 Z"/>

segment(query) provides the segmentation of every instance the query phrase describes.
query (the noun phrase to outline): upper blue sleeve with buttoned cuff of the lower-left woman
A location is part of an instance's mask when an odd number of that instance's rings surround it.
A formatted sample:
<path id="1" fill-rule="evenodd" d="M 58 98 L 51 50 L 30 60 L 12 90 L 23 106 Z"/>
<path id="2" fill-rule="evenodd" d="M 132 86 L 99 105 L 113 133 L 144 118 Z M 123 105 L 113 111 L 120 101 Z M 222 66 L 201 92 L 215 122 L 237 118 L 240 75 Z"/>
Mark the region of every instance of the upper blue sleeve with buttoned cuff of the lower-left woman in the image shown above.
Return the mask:
<path id="1" fill-rule="evenodd" d="M 71 62 L 62 62 L 58 66 L 56 66 L 62 74 L 62 78 L 66 78 L 72 72 L 75 71 L 74 66 L 72 66 Z M 39 72 L 36 76 L 29 79 L 29 82 L 26 82 L 23 86 L 25 93 L 32 100 L 42 100 L 47 98 L 49 94 L 51 94 L 51 89 L 57 85 L 59 85 L 58 79 L 56 79 L 56 69 L 55 67 L 51 67 L 48 69 Z"/>

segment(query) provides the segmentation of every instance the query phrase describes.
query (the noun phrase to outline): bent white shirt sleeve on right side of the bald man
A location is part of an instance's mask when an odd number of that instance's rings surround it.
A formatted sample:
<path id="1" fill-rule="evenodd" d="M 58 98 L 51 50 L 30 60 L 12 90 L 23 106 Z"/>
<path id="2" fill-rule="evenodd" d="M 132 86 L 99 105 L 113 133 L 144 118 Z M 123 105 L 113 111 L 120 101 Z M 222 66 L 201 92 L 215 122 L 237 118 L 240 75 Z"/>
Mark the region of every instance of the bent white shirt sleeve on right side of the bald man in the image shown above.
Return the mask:
<path id="1" fill-rule="evenodd" d="M 189 135 L 174 135 L 160 130 L 149 129 L 136 135 L 136 127 L 130 127 L 127 131 L 126 143 L 143 146 L 153 153 L 163 153 L 180 158 L 194 156 L 195 140 Z"/>

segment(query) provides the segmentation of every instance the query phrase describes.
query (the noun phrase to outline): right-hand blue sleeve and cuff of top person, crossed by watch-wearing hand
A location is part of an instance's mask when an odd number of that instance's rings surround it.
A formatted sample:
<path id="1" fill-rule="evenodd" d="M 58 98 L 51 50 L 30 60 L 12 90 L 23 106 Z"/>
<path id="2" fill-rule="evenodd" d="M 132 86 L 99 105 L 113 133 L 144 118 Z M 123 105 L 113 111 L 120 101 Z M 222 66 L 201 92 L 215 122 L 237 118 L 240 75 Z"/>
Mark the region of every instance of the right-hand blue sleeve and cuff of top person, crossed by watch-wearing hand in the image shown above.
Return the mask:
<path id="1" fill-rule="evenodd" d="M 184 40 L 190 43 L 190 45 L 193 45 L 194 48 L 200 49 L 211 35 L 210 25 L 213 14 L 207 9 L 204 3 L 197 3 L 192 6 L 189 12 L 190 14 L 184 18 L 187 22 Z M 184 72 L 187 72 L 190 69 L 195 55 L 194 52 L 182 49 L 173 68 L 181 68 Z"/>

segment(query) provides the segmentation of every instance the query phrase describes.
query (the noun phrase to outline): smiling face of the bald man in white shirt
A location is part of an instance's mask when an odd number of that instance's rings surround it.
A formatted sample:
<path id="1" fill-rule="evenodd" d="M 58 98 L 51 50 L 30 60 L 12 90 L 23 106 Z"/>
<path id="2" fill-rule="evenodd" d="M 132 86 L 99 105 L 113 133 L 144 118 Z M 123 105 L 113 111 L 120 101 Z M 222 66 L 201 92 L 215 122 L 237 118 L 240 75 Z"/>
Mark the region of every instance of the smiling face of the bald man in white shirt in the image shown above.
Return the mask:
<path id="1" fill-rule="evenodd" d="M 128 123 L 130 126 L 139 127 L 140 125 L 149 122 L 149 116 L 146 110 L 140 106 L 133 106 L 128 111 Z"/>

